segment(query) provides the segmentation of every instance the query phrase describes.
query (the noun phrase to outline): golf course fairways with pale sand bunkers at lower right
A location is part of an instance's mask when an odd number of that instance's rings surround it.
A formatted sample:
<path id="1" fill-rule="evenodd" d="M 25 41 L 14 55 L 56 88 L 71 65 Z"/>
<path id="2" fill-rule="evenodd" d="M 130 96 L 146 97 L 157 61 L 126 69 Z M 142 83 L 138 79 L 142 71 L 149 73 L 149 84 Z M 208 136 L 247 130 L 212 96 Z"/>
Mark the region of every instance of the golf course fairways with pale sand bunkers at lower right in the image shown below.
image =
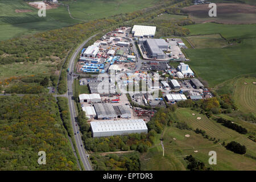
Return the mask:
<path id="1" fill-rule="evenodd" d="M 194 113 L 195 115 L 192 115 Z M 141 163 L 143 170 L 185 170 L 187 163 L 184 158 L 193 155 L 196 159 L 204 162 L 207 167 L 214 170 L 255 170 L 256 156 L 255 143 L 236 131 L 230 130 L 212 119 L 208 119 L 203 114 L 192 111 L 188 108 L 181 108 L 176 111 L 177 119 L 186 122 L 192 129 L 199 128 L 205 130 L 210 137 L 220 138 L 220 143 L 224 140 L 230 142 L 236 140 L 247 147 L 245 155 L 234 154 L 226 150 L 219 143 L 213 143 L 205 139 L 201 134 L 196 134 L 192 130 L 180 130 L 174 126 L 167 127 L 163 135 L 164 156 L 162 147 L 158 144 L 142 155 Z M 201 117 L 201 120 L 197 120 Z M 246 123 L 246 125 L 248 125 Z M 189 134 L 190 137 L 185 137 Z M 175 139 L 176 140 L 175 140 Z M 197 151 L 197 152 L 195 152 Z M 209 151 L 216 151 L 217 165 L 209 165 Z"/>

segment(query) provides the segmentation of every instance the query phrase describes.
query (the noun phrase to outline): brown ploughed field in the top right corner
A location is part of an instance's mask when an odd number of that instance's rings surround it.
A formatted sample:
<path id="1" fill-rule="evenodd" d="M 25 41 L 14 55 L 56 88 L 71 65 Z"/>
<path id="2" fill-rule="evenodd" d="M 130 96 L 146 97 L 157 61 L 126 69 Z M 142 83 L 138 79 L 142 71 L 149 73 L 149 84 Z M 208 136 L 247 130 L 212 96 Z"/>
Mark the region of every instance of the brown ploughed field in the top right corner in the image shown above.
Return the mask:
<path id="1" fill-rule="evenodd" d="M 217 3 L 217 17 L 209 17 L 208 4 L 183 8 L 196 23 L 216 22 L 225 24 L 256 23 L 255 6 L 241 3 Z"/>

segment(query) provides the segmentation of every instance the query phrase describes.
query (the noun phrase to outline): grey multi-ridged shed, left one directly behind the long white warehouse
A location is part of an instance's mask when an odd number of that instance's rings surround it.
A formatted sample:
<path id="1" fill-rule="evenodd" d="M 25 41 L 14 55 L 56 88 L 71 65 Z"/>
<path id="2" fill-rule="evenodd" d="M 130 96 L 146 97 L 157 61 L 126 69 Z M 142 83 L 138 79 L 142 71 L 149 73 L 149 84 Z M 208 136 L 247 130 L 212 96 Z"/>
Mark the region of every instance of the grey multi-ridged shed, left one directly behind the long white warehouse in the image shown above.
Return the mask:
<path id="1" fill-rule="evenodd" d="M 117 114 L 112 104 L 109 103 L 96 103 L 94 109 L 97 113 L 98 119 L 113 119 L 117 118 Z"/>

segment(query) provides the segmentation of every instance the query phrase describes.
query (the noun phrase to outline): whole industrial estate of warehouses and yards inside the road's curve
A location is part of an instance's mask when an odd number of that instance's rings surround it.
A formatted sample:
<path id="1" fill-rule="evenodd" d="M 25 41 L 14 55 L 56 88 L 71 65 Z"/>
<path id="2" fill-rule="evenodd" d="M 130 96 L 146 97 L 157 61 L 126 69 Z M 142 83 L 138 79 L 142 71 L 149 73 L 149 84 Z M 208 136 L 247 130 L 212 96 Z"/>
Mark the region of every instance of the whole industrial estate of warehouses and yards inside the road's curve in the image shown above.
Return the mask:
<path id="1" fill-rule="evenodd" d="M 177 68 L 170 67 L 168 61 L 174 60 L 172 57 L 176 56 L 176 61 L 178 55 L 179 61 L 181 57 L 184 58 L 179 47 L 180 40 L 154 39 L 156 31 L 157 27 L 151 26 L 120 27 L 82 49 L 76 70 L 85 75 L 93 74 L 93 77 L 81 78 L 80 85 L 88 86 L 90 94 L 81 93 L 79 100 L 86 117 L 91 124 L 93 123 L 91 125 L 93 137 L 126 135 L 142 131 L 147 133 L 146 124 L 141 130 L 141 125 L 136 123 L 147 123 L 152 113 L 156 111 L 154 108 L 167 107 L 187 98 L 202 100 L 213 96 L 197 78 L 194 78 L 195 75 L 188 64 L 180 62 Z M 179 52 L 178 55 L 173 55 L 172 49 Z M 160 69 L 157 69 L 158 67 Z M 156 77 L 160 71 L 162 75 L 160 78 Z M 107 73 L 109 76 L 106 75 Z M 119 81 L 115 80 L 117 84 L 113 82 L 110 73 L 121 78 Z M 150 77 L 152 74 L 153 76 Z M 165 74 L 172 76 L 172 79 L 164 77 Z M 156 81 L 153 81 L 154 79 Z M 126 91 L 129 84 L 139 88 L 140 81 L 146 81 L 147 91 L 135 89 L 127 92 L 128 97 L 131 98 L 129 102 L 127 95 L 123 94 L 125 92 L 120 90 Z M 156 91 L 160 92 L 160 97 L 159 94 L 153 96 L 152 92 Z M 132 103 L 137 104 L 138 107 L 132 106 Z M 150 106 L 152 109 L 150 112 L 147 110 L 138 112 L 140 106 Z M 114 121 L 120 121 L 122 125 L 118 126 L 123 127 L 112 126 L 112 129 L 103 129 Z M 130 122 L 135 124 L 129 124 Z M 127 127 L 130 125 L 133 126 Z M 96 130 L 97 134 L 95 134 Z"/>

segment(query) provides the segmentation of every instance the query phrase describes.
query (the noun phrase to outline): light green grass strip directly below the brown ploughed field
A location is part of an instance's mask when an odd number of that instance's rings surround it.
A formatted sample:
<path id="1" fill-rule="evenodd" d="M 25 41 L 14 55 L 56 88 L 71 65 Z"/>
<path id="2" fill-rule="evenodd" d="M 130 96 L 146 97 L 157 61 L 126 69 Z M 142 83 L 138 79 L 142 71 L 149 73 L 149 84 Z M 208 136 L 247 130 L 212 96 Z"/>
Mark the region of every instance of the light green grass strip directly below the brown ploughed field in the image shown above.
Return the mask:
<path id="1" fill-rule="evenodd" d="M 225 39 L 255 38 L 256 24 L 200 23 L 184 26 L 190 35 L 221 34 Z"/>

